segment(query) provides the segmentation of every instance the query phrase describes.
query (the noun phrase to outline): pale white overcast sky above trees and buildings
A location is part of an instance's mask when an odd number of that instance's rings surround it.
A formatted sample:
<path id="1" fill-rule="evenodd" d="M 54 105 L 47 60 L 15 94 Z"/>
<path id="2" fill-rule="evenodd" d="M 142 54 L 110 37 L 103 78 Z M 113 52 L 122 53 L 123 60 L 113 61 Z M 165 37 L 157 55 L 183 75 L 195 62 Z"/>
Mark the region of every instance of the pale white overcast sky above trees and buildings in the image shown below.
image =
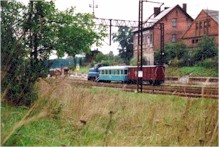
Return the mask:
<path id="1" fill-rule="evenodd" d="M 19 0 L 27 3 L 29 0 Z M 65 10 L 71 6 L 76 7 L 76 12 L 80 13 L 92 13 L 93 8 L 89 5 L 93 5 L 93 0 L 54 0 L 56 7 L 59 10 Z M 217 10 L 219 7 L 217 0 L 145 0 L 164 3 L 161 10 L 164 7 L 172 7 L 179 5 L 182 7 L 183 3 L 187 4 L 187 13 L 192 17 L 196 18 L 202 9 Z M 97 18 L 107 19 L 122 19 L 122 20 L 138 20 L 138 2 L 139 0 L 94 0 L 94 5 L 98 5 L 98 8 L 94 9 L 95 16 Z M 159 7 L 160 4 L 151 2 L 144 2 L 144 20 L 146 20 L 152 13 L 154 7 Z M 116 32 L 117 28 L 113 28 L 112 32 Z M 97 47 L 93 46 L 92 49 Z M 102 47 L 98 47 L 98 50 L 104 54 L 113 51 L 114 55 L 118 54 L 118 43 L 113 43 L 109 46 L 109 38 L 106 38 L 103 42 Z"/>

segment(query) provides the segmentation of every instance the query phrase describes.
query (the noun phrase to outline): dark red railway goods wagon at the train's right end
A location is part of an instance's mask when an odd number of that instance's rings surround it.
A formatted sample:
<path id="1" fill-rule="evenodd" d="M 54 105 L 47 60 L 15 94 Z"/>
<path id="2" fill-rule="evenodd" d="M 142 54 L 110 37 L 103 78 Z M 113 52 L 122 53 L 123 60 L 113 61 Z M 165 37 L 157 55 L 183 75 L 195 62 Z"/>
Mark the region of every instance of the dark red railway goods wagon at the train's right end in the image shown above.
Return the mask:
<path id="1" fill-rule="evenodd" d="M 143 82 L 149 82 L 152 85 L 160 85 L 164 83 L 165 79 L 165 67 L 161 65 L 147 65 L 142 67 Z M 138 67 L 128 68 L 128 79 L 132 83 L 136 83 L 138 80 Z"/>

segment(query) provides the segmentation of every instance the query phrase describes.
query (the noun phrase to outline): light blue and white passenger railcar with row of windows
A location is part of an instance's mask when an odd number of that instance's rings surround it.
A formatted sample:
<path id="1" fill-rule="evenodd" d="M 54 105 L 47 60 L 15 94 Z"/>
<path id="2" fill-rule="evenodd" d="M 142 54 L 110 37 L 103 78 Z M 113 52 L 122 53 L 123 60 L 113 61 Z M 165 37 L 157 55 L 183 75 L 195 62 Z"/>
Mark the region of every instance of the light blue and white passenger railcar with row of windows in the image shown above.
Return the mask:
<path id="1" fill-rule="evenodd" d="M 128 66 L 105 66 L 99 68 L 99 82 L 128 82 Z"/>

